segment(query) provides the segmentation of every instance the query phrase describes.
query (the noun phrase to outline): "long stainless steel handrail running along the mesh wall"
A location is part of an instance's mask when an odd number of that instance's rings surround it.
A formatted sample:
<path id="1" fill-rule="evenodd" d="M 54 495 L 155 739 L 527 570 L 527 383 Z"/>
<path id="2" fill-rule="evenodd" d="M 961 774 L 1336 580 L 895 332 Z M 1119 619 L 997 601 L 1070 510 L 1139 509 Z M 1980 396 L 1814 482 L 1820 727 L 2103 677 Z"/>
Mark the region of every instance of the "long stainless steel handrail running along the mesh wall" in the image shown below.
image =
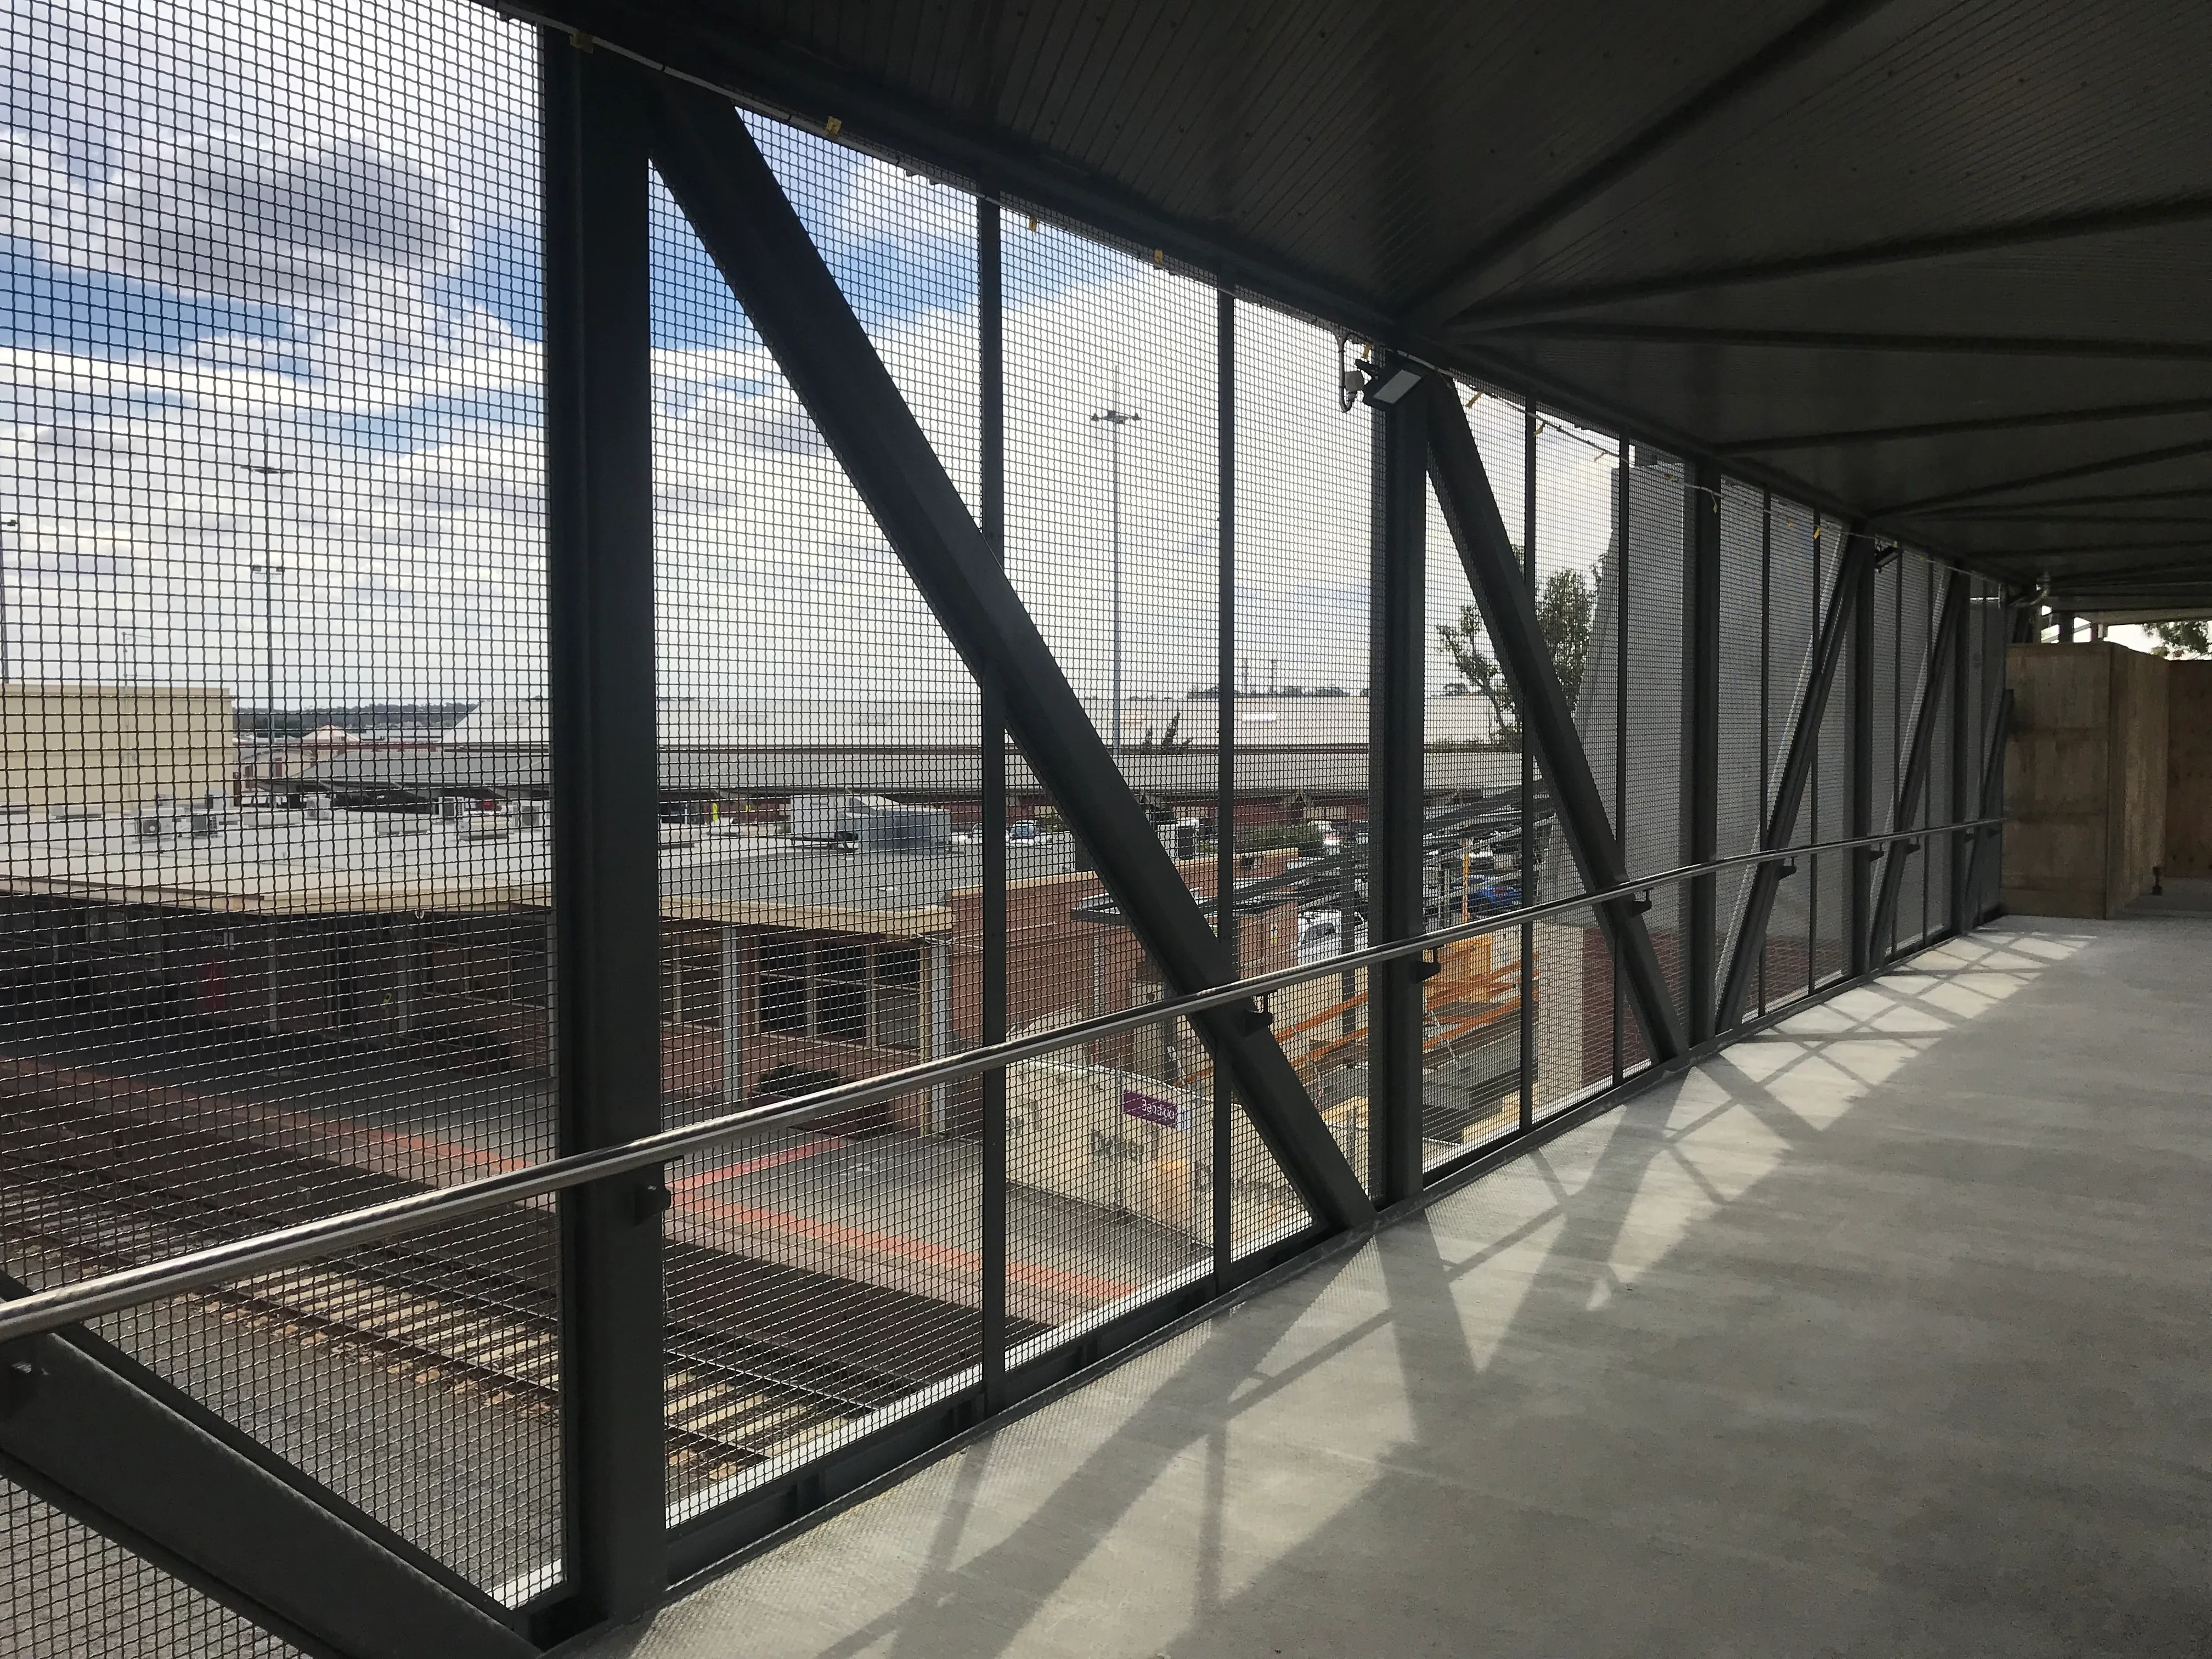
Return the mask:
<path id="1" fill-rule="evenodd" d="M 1958 823 L 1940 823 L 1927 830 L 1891 830 L 1878 836 L 1851 836 L 1849 841 L 1820 841 L 1803 847 L 1783 847 L 1778 852 L 1745 852 L 1730 858 L 1708 858 L 1697 865 L 1677 865 L 1674 869 L 1661 869 L 1652 876 L 1641 876 L 1595 894 L 1573 894 L 1571 898 L 1553 898 L 1542 905 L 1495 911 L 1478 920 L 1420 933 L 1418 938 L 1369 945 L 1363 951 L 1345 951 L 1327 958 L 1325 962 L 1276 969 L 1274 973 L 1254 973 L 1252 978 L 1237 980 L 1234 984 L 1197 991 L 1166 1002 L 1148 1002 L 1141 1009 L 1106 1013 L 1095 1020 L 1082 1020 L 1077 1024 L 1060 1026 L 1031 1037 L 1015 1037 L 984 1048 L 969 1048 L 967 1053 L 949 1055 L 945 1060 L 925 1060 L 914 1066 L 902 1066 L 900 1071 L 887 1071 L 876 1077 L 838 1084 L 812 1095 L 779 1099 L 770 1106 L 748 1106 L 737 1113 L 723 1113 L 721 1117 L 686 1124 L 684 1128 L 644 1135 L 635 1141 L 624 1141 L 622 1146 L 571 1152 L 568 1157 L 546 1159 L 544 1164 L 531 1164 L 520 1170 L 487 1175 L 480 1181 L 462 1181 L 434 1192 L 416 1192 L 405 1199 L 394 1199 L 392 1203 L 345 1210 L 319 1221 L 301 1221 L 299 1225 L 276 1228 L 274 1232 L 254 1234 L 252 1239 L 228 1239 L 219 1245 L 208 1245 L 206 1250 L 190 1250 L 161 1261 L 122 1267 L 111 1274 L 100 1274 L 97 1279 L 80 1279 L 69 1285 L 58 1285 L 53 1290 L 0 1303 L 0 1343 L 40 1336 L 44 1332 L 60 1329 L 62 1325 L 75 1325 L 86 1318 L 97 1318 L 100 1314 L 115 1314 L 124 1307 L 137 1307 L 139 1303 L 159 1301 L 164 1296 L 179 1296 L 190 1290 L 206 1290 L 208 1285 L 221 1285 L 248 1274 L 292 1267 L 301 1261 L 338 1254 L 341 1250 L 376 1243 L 378 1239 L 392 1239 L 403 1232 L 420 1232 L 422 1228 L 445 1221 L 460 1221 L 471 1214 L 482 1214 L 484 1210 L 498 1210 L 504 1203 L 538 1199 L 549 1192 L 584 1186 L 586 1181 L 604 1181 L 615 1175 L 659 1168 L 661 1164 L 670 1164 L 690 1152 L 703 1152 L 712 1146 L 737 1139 L 748 1130 L 770 1124 L 803 1124 L 836 1110 L 872 1106 L 898 1095 L 911 1095 L 914 1091 L 929 1088 L 933 1084 L 975 1077 L 1018 1060 L 1035 1060 L 1037 1055 L 1057 1053 L 1060 1048 L 1077 1048 L 1121 1031 L 1152 1026 L 1161 1020 L 1177 1020 L 1203 1013 L 1206 1009 L 1252 1002 L 1256 998 L 1272 995 L 1274 991 L 1305 984 L 1307 980 L 1329 978 L 1332 973 L 1352 973 L 1380 962 L 1396 962 L 1405 956 L 1420 956 L 1464 938 L 1502 933 L 1520 927 L 1522 922 L 1542 920 L 1546 916 L 1559 916 L 1590 905 L 1606 905 L 1619 898 L 1637 898 L 1655 887 L 1690 880 L 1692 876 L 1741 869 L 1745 865 L 1765 865 L 1781 858 L 1812 858 L 1816 854 L 1851 852 L 1856 847 L 1885 847 L 1896 841 L 1958 836 L 1993 830 L 2000 823 L 2004 823 L 2002 816 L 1962 818 Z"/>

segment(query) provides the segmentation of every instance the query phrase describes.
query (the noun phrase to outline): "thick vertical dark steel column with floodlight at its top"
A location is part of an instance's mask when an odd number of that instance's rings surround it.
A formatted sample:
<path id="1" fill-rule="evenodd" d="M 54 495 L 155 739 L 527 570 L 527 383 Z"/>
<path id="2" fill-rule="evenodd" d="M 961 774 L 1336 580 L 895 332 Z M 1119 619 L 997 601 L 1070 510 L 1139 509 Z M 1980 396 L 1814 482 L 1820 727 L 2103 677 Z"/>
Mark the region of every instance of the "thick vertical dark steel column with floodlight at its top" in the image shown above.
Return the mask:
<path id="1" fill-rule="evenodd" d="M 1407 365 L 1387 356 L 1378 385 Z M 1433 380 L 1451 396 L 1447 380 Z M 1422 679 L 1427 626 L 1422 551 L 1429 520 L 1425 385 L 1374 411 L 1374 515 L 1367 650 L 1367 942 L 1418 938 L 1422 914 Z M 1420 1192 L 1420 958 L 1367 969 L 1367 1126 L 1376 1203 Z"/>

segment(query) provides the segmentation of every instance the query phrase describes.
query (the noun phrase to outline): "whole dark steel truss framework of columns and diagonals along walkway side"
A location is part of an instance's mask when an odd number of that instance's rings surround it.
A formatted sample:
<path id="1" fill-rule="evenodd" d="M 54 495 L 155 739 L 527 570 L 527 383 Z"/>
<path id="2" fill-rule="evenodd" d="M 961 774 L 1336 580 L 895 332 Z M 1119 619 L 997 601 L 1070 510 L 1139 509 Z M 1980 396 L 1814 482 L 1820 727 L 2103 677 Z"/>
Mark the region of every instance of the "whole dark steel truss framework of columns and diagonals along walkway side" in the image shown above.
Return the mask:
<path id="1" fill-rule="evenodd" d="M 1851 7 L 1834 7 L 1836 18 Z M 1820 24 L 1836 27 L 1836 18 Z M 613 51 L 544 35 L 549 571 L 553 608 L 555 914 L 560 953 L 560 1144 L 593 1155 L 661 1128 L 657 1004 L 655 630 L 650 493 L 650 341 L 646 319 L 646 188 L 657 168 L 790 385 L 836 453 L 909 580 L 984 692 L 984 1062 L 1006 1040 L 1004 743 L 1011 734 L 1086 845 L 1121 914 L 1166 971 L 1170 993 L 1199 998 L 1192 1024 L 1217 1057 L 1217 1102 L 1237 1102 L 1305 1201 L 1312 1225 L 1254 1254 L 1230 1250 L 1225 1183 L 1214 1183 L 1214 1259 L 1199 1279 L 1117 1312 L 1051 1352 L 1009 1365 L 1004 1214 L 1004 1062 L 982 1077 L 982 1365 L 951 1391 L 860 1436 L 807 1469 L 670 1526 L 661 1422 L 659 1159 L 557 1181 L 564 1274 L 566 1548 L 562 1584 L 520 1610 L 493 1604 L 400 1540 L 279 1467 L 192 1402 L 164 1398 L 128 1360 L 80 1329 L 9 1347 L 0 1462 L 29 1489 L 106 1531 L 294 1646 L 367 1655 L 509 1655 L 650 1606 L 672 1582 L 863 1489 L 902 1462 L 1037 1398 L 1119 1349 L 1241 1294 L 1314 1250 L 1559 1133 L 1774 1018 L 1763 962 L 1781 883 L 1814 783 L 1820 734 L 1843 708 L 1849 743 L 1845 810 L 1858 845 L 1825 856 L 1851 865 L 1849 967 L 1814 962 L 1798 995 L 1827 995 L 1896 953 L 1909 836 L 1951 849 L 1949 909 L 1929 938 L 1980 922 L 2004 703 L 1966 723 L 1971 586 L 1951 573 L 1936 619 L 1893 799 L 1874 799 L 1874 591 L 1878 546 L 1854 533 L 1825 584 L 1818 628 L 1792 706 L 1774 787 L 1761 801 L 1754 854 L 1723 858 L 1717 799 L 1721 491 L 1699 460 L 1683 491 L 1681 604 L 1681 867 L 1632 872 L 1624 827 L 1599 792 L 1575 710 L 1542 637 L 1533 571 L 1500 515 L 1455 385 L 1387 352 L 1369 376 L 1374 405 L 1371 688 L 1376 1091 L 1369 1168 L 1356 1170 L 1285 1060 L 1263 1004 L 1243 991 L 1232 951 L 1155 838 L 1044 635 L 1004 573 L 1004 400 L 998 206 L 978 208 L 982 515 L 964 507 L 909 414 L 836 279 L 807 239 L 774 173 L 730 102 L 655 75 Z M 1694 111 L 1681 119 L 1694 119 Z M 1555 208 L 1553 208 L 1555 210 Z M 1480 263 L 1480 261 L 1478 261 Z M 1756 276 L 1745 276 L 1745 281 Z M 1438 301 L 1455 303 L 1455 294 Z M 1566 305 L 1562 305 L 1564 310 Z M 1234 299 L 1219 305 L 1221 442 L 1221 807 L 1234 803 Z M 1535 411 L 1528 414 L 1535 431 Z M 1533 456 L 1533 449 L 1531 449 Z M 1533 480 L 1533 458 L 1531 458 Z M 1531 739 L 1524 779 L 1542 763 L 1555 827 L 1595 898 L 1595 918 L 1655 1064 L 1537 1119 L 1524 1095 L 1509 1133 L 1422 1170 L 1422 951 L 1433 936 L 1420 889 L 1425 495 L 1433 487 L 1460 566 Z M 1531 493 L 1533 502 L 1533 493 Z M 1533 513 L 1533 504 L 1531 504 Z M 1621 549 L 1626 557 L 1626 549 Z M 1626 619 L 1621 622 L 1626 635 Z M 1849 679 L 1838 699 L 1838 679 Z M 1626 692 L 1621 692 L 1626 697 Z M 1765 690 L 1761 690 L 1765 699 Z M 1765 703 L 1761 706 L 1765 710 Z M 1969 743 L 1973 752 L 1969 754 Z M 1938 750 L 1951 757 L 1940 825 L 1922 823 Z M 1765 761 L 1761 761 L 1765 763 Z M 1533 790 L 1522 792 L 1524 825 Z M 1626 796 L 1621 796 L 1626 801 Z M 1964 818 L 1978 803 L 1973 827 Z M 1887 825 L 1876 825 L 1876 810 Z M 1882 836 L 1891 836 L 1887 847 Z M 1225 841 L 1225 838 L 1223 838 Z M 1719 869 L 1750 865 L 1741 914 L 1723 920 Z M 1880 885 L 1871 876 L 1880 863 Z M 1221 852 L 1221 889 L 1234 880 Z M 1637 878 L 1648 885 L 1637 889 Z M 1683 891 L 1674 940 L 1683 989 L 1668 982 L 1646 922 L 1650 885 Z M 1232 929 L 1228 905 L 1219 927 Z M 1531 922 L 1520 922 L 1528 938 Z M 1462 929 L 1464 931 L 1464 929 Z M 1524 964 L 1533 960 L 1524 951 Z M 1528 969 L 1524 967 L 1524 973 Z M 1537 987 L 1531 984 L 1528 991 Z M 1524 998 L 1522 1055 L 1533 1071 Z M 1790 1006 L 1787 1000 L 1778 1006 Z M 1619 1029 L 1615 1026 L 1615 1044 Z M 945 1068 L 940 1068 L 945 1073 Z M 945 1073 L 949 1075 L 949 1073 Z M 823 1108 L 816 1108 L 823 1110 Z M 1230 1113 L 1214 1115 L 1217 1168 L 1228 1166 Z M 668 1152 L 672 1157 L 675 1152 Z M 292 1259 L 303 1259 L 296 1252 Z M 210 1281 L 212 1283 L 212 1281 Z M 35 1301 L 35 1298 L 33 1298 Z M 128 1444 L 126 1460 L 111 1449 Z M 208 1517 L 217 1522 L 210 1524 Z"/>

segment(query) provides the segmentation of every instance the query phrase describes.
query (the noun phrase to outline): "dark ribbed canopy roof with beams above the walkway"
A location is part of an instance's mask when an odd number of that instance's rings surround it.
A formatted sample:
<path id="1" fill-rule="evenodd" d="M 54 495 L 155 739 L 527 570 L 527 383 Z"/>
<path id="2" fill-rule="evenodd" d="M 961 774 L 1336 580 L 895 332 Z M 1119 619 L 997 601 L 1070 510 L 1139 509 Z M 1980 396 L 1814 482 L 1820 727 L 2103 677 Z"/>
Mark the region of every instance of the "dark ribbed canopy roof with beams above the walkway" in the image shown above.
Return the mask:
<path id="1" fill-rule="evenodd" d="M 546 4 L 2070 608 L 2212 608 L 2203 0 Z"/>

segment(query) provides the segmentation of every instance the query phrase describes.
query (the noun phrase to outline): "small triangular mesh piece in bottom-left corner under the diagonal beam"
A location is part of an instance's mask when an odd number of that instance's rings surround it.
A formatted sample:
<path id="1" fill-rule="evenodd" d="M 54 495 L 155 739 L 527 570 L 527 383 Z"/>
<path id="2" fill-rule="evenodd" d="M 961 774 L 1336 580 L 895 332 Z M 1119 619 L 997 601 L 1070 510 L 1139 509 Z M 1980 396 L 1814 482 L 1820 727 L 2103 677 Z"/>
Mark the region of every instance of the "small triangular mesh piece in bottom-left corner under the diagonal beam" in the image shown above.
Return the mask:
<path id="1" fill-rule="evenodd" d="M 0 1655 L 292 1659 L 299 1648 L 0 1478 Z"/>

